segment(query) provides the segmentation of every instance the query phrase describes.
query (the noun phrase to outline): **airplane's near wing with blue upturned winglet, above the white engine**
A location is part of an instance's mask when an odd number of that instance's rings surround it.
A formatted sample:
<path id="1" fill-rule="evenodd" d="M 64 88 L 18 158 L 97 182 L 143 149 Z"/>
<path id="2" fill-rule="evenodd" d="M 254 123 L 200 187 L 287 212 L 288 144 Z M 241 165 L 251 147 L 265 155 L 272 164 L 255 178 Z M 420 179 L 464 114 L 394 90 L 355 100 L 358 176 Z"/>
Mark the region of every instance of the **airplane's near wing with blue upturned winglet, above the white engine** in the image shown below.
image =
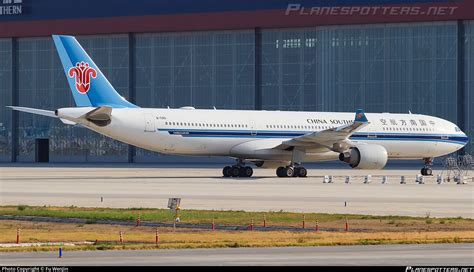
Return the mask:
<path id="1" fill-rule="evenodd" d="M 325 147 L 329 150 L 342 152 L 352 146 L 349 137 L 362 129 L 369 122 L 363 110 L 357 110 L 352 124 L 330 128 L 322 131 L 308 133 L 282 142 L 275 148 L 288 149 L 291 147 Z"/>

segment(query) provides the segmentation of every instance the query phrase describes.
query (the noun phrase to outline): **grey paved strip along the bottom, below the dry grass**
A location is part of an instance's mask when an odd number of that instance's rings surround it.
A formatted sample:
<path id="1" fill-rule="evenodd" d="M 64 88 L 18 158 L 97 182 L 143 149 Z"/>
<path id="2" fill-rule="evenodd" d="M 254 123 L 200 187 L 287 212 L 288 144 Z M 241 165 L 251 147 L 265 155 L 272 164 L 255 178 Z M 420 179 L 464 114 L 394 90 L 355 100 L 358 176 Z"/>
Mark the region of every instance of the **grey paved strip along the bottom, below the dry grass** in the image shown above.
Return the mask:
<path id="1" fill-rule="evenodd" d="M 472 266 L 474 244 L 0 253 L 0 265 L 401 265 Z"/>

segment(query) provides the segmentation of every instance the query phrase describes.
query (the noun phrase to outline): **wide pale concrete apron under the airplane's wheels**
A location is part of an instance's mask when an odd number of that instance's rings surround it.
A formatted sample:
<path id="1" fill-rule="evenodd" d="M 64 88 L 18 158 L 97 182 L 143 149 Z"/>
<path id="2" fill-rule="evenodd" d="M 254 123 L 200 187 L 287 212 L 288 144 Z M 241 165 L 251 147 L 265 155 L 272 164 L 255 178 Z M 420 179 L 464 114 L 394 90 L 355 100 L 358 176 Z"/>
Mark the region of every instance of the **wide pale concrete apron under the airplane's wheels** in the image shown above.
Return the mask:
<path id="1" fill-rule="evenodd" d="M 0 166 L 0 205 L 166 208 L 181 197 L 184 209 L 298 211 L 474 218 L 474 183 L 417 184 L 419 169 L 308 169 L 307 178 L 277 178 L 254 168 L 252 178 L 222 178 L 221 168 L 88 165 Z M 363 183 L 371 174 L 372 182 Z M 324 175 L 334 183 L 323 184 Z M 344 176 L 352 175 L 351 184 Z M 389 177 L 382 184 L 382 176 Z M 400 184 L 400 176 L 407 184 Z M 103 202 L 101 202 L 103 197 Z M 347 206 L 345 206 L 345 202 Z"/>

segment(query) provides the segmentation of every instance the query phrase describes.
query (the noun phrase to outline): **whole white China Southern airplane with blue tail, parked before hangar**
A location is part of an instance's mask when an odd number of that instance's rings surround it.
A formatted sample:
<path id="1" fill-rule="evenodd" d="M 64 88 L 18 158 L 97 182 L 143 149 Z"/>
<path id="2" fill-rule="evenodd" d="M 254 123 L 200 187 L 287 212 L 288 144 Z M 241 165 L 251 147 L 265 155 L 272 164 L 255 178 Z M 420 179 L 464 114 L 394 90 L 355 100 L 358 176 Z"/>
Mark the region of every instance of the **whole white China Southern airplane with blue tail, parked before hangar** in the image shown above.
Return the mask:
<path id="1" fill-rule="evenodd" d="M 143 149 L 175 155 L 226 156 L 224 177 L 251 177 L 257 167 L 278 177 L 306 177 L 304 162 L 337 160 L 355 169 L 382 169 L 388 159 L 433 158 L 464 147 L 454 123 L 420 114 L 141 108 L 110 84 L 73 36 L 53 35 L 76 107 L 54 111 L 9 106 L 59 118 Z"/>

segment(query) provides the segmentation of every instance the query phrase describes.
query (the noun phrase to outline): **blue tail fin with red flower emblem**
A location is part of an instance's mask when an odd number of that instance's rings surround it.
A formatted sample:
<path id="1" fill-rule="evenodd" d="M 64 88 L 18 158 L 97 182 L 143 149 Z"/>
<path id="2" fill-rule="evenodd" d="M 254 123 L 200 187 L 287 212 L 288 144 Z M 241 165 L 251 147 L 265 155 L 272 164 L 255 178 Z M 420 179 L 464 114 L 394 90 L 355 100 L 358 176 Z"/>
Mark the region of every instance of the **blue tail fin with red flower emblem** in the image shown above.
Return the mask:
<path id="1" fill-rule="evenodd" d="M 114 89 L 76 38 L 53 35 L 53 40 L 76 106 L 137 108 Z"/>

